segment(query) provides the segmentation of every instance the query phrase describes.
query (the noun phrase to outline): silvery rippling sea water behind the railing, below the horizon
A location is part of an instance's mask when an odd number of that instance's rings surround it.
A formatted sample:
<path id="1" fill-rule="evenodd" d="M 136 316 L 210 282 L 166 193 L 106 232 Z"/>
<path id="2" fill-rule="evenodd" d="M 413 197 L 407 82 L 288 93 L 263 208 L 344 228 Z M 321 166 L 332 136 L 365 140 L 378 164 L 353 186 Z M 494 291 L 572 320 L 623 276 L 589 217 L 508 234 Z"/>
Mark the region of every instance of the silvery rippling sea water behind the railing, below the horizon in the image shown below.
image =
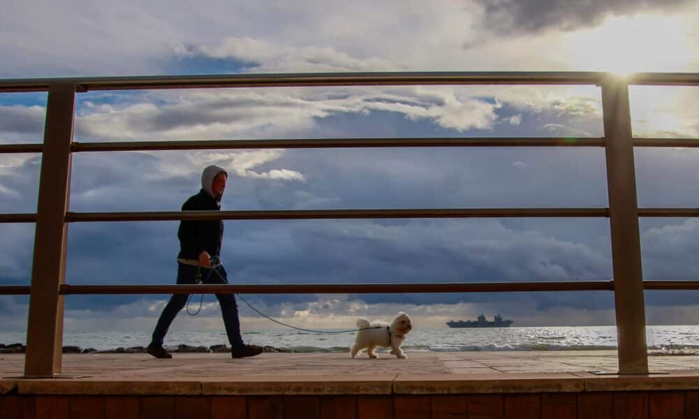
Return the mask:
<path id="1" fill-rule="evenodd" d="M 333 330 L 328 330 L 333 331 Z M 699 350 L 699 325 L 648 326 L 649 349 Z M 246 343 L 269 345 L 296 352 L 345 352 L 354 333 L 319 334 L 293 329 L 243 332 Z M 24 333 L 0 332 L 0 343 L 26 341 Z M 146 346 L 150 333 L 144 332 L 67 332 L 64 345 L 95 348 Z M 179 344 L 212 346 L 228 344 L 224 330 L 168 333 L 165 346 Z M 582 351 L 617 348 L 615 326 L 533 327 L 491 329 L 413 330 L 403 344 L 405 351 Z"/>

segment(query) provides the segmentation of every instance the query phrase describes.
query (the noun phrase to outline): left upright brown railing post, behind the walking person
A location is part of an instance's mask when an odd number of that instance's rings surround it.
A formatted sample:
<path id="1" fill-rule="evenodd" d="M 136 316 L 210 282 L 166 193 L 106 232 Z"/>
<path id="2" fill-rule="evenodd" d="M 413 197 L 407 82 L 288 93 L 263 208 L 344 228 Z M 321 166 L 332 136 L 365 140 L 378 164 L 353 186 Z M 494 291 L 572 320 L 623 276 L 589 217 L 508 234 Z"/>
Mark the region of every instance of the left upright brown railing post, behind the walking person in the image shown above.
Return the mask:
<path id="1" fill-rule="evenodd" d="M 61 372 L 64 305 L 59 288 L 66 274 L 65 216 L 74 112 L 75 84 L 52 85 L 46 106 L 24 360 L 24 375 L 30 377 L 52 377 Z"/>

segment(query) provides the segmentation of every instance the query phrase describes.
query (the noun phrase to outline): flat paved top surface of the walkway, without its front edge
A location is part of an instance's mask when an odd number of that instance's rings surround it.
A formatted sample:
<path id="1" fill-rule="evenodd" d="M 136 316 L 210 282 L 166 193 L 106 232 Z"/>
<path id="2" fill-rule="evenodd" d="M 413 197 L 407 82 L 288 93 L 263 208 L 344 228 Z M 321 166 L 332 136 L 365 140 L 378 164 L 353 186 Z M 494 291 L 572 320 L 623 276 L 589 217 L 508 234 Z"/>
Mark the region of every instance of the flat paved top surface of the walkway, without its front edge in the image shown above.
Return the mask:
<path id="1" fill-rule="evenodd" d="M 63 372 L 101 378 L 226 378 L 257 374 L 518 374 L 617 372 L 616 351 L 413 352 L 407 360 L 387 353 L 355 359 L 346 353 L 263 353 L 233 360 L 226 353 L 174 353 L 158 360 L 145 353 L 64 354 Z M 0 377 L 21 376 L 24 355 L 0 355 Z M 698 355 L 649 357 L 651 372 L 694 371 Z"/>

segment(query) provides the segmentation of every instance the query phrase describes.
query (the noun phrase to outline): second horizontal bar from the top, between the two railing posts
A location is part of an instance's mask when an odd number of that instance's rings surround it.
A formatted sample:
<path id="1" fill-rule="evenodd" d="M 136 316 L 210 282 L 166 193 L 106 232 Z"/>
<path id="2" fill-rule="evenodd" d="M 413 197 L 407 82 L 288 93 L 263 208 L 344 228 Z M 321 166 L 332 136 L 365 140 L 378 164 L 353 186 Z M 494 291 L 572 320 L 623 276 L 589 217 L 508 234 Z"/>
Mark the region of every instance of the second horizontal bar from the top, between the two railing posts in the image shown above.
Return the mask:
<path id="1" fill-rule="evenodd" d="M 189 140 L 73 142 L 73 152 L 185 149 L 269 149 L 340 147 L 604 147 L 604 138 L 308 138 L 297 140 Z"/>

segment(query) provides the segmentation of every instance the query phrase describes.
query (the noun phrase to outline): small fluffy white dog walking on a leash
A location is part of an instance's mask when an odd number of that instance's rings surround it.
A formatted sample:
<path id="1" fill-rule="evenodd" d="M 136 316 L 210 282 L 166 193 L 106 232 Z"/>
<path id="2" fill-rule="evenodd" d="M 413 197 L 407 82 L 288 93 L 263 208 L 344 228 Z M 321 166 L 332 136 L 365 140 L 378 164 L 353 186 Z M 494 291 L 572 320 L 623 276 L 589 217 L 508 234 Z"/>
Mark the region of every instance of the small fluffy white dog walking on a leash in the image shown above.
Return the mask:
<path id="1" fill-rule="evenodd" d="M 363 330 L 356 332 L 354 337 L 354 345 L 350 349 L 352 358 L 364 348 L 366 348 L 369 358 L 378 358 L 374 352 L 377 346 L 390 347 L 391 355 L 403 359 L 408 358 L 401 350 L 405 335 L 408 335 L 412 330 L 412 321 L 408 314 L 398 313 L 390 325 L 384 321 L 369 323 L 366 318 L 359 318 L 356 321 L 356 327 Z"/>

